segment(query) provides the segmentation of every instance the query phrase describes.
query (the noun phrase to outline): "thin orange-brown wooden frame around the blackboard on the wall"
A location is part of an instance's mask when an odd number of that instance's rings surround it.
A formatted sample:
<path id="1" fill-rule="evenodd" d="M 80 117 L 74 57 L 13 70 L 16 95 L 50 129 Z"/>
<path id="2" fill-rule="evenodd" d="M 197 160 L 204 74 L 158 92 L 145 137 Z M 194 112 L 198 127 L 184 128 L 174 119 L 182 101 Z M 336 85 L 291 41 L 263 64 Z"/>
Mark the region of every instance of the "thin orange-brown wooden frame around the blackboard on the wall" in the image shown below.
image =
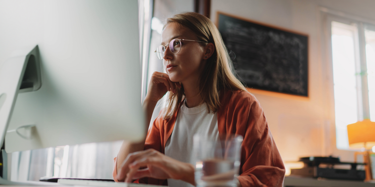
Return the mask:
<path id="1" fill-rule="evenodd" d="M 234 19 L 238 19 L 238 20 L 241 20 L 241 21 L 246 21 L 246 22 L 249 22 L 249 23 L 252 23 L 252 24 L 257 24 L 257 25 L 260 25 L 260 26 L 269 27 L 269 28 L 272 28 L 272 29 L 288 32 L 288 33 L 291 33 L 291 34 L 297 34 L 297 35 L 305 36 L 307 38 L 306 39 L 306 49 L 305 49 L 306 50 L 306 60 L 305 60 L 305 64 L 304 64 L 305 67 L 306 67 L 306 81 L 304 82 L 306 84 L 306 92 L 307 92 L 306 95 L 293 94 L 293 93 L 283 93 L 283 92 L 271 91 L 271 90 L 266 90 L 266 89 L 255 89 L 255 88 L 249 88 L 249 87 L 247 87 L 246 89 L 250 93 L 262 94 L 262 95 L 268 95 L 268 96 L 274 96 L 274 97 L 280 97 L 280 98 L 286 98 L 286 99 L 294 99 L 294 100 L 304 100 L 304 101 L 309 100 L 309 91 L 310 91 L 309 87 L 310 87 L 310 85 L 309 85 L 309 73 L 308 73 L 308 70 L 309 70 L 309 68 L 308 68 L 308 66 L 309 66 L 308 49 L 309 49 L 309 43 L 310 42 L 309 42 L 308 34 L 302 33 L 302 32 L 299 32 L 299 31 L 295 31 L 295 30 L 291 30 L 291 29 L 288 29 L 288 28 L 283 28 L 283 27 L 280 27 L 280 26 L 274 26 L 274 25 L 271 25 L 271 24 L 262 23 L 262 22 L 259 22 L 259 21 L 254 21 L 254 20 L 251 20 L 251 19 L 248 19 L 248 18 L 224 13 L 224 12 L 221 12 L 221 11 L 216 11 L 215 24 L 216 24 L 217 28 L 219 28 L 219 15 L 220 14 L 231 17 L 231 18 L 234 18 Z"/>

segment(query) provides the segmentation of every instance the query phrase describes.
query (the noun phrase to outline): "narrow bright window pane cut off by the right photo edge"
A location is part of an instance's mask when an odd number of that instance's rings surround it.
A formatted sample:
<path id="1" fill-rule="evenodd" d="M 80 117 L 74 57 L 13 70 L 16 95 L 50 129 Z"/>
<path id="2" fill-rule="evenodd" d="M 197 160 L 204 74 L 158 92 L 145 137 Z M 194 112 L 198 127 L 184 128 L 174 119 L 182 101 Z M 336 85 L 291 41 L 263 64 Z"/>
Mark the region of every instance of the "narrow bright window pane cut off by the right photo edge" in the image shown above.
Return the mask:
<path id="1" fill-rule="evenodd" d="M 375 29 L 365 29 L 368 100 L 370 119 L 375 120 Z"/>

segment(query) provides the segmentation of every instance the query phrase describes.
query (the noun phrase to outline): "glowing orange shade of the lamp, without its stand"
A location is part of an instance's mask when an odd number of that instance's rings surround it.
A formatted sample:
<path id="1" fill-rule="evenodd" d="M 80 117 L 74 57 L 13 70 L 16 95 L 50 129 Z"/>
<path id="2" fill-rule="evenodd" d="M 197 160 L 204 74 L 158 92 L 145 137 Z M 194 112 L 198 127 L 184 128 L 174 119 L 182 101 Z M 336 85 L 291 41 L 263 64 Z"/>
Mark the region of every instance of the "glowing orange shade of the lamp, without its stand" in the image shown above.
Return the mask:
<path id="1" fill-rule="evenodd" d="M 347 125 L 349 147 L 371 149 L 375 146 L 375 122 L 369 119 Z"/>

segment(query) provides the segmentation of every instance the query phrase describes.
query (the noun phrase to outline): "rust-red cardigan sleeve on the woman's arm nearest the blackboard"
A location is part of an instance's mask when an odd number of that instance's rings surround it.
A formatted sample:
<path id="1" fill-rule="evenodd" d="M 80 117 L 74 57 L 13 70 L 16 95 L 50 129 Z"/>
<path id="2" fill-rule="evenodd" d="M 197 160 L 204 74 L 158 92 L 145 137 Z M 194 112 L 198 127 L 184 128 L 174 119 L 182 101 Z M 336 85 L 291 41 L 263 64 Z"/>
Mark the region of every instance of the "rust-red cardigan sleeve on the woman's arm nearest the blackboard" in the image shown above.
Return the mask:
<path id="1" fill-rule="evenodd" d="M 252 96 L 237 105 L 234 116 L 242 120 L 237 120 L 236 134 L 243 136 L 239 183 L 242 187 L 282 187 L 285 168 L 259 102 Z"/>

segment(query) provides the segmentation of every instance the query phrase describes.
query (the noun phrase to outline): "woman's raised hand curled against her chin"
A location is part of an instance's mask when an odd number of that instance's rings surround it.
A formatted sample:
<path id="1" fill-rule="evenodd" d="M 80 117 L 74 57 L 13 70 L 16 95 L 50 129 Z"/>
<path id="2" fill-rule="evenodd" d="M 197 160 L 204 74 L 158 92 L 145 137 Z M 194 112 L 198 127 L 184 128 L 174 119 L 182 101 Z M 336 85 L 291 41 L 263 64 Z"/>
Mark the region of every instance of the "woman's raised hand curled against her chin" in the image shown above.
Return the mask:
<path id="1" fill-rule="evenodd" d="M 168 74 L 155 71 L 148 85 L 146 99 L 157 102 L 167 91 L 175 93 L 176 87 L 181 88 L 181 85 L 170 81 Z"/>

